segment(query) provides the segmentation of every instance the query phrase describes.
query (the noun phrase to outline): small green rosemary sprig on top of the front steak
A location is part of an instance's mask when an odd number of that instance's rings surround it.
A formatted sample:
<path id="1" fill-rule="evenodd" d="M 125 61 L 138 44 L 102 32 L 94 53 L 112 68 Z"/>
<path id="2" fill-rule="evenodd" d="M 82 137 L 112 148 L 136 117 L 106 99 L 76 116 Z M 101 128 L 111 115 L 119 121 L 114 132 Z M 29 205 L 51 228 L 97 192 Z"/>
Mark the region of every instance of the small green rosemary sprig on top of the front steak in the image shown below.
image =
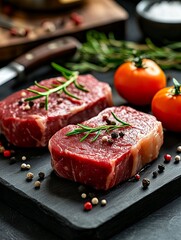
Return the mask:
<path id="1" fill-rule="evenodd" d="M 76 128 L 73 131 L 70 131 L 66 134 L 66 136 L 72 136 L 72 135 L 77 135 L 81 133 L 86 133 L 81 139 L 80 142 L 84 141 L 91 133 L 96 133 L 95 137 L 92 138 L 91 142 L 94 142 L 97 140 L 99 135 L 101 134 L 101 131 L 109 132 L 115 129 L 123 128 L 123 127 L 130 127 L 131 125 L 129 123 L 126 123 L 119 119 L 113 112 L 111 112 L 112 116 L 114 119 L 116 119 L 118 122 L 121 124 L 116 125 L 116 124 L 107 124 L 107 125 L 102 125 L 98 127 L 89 127 L 83 124 L 77 124 L 80 128 Z"/>

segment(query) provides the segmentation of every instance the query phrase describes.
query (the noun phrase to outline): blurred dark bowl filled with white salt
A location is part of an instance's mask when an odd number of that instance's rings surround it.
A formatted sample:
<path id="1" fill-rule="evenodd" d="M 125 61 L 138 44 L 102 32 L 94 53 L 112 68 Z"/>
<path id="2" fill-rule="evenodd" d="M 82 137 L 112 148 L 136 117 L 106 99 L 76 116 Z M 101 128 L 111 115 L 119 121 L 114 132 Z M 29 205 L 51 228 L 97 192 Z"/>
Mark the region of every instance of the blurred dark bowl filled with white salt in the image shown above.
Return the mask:
<path id="1" fill-rule="evenodd" d="M 165 44 L 181 41 L 181 1 L 141 0 L 136 13 L 145 37 Z"/>

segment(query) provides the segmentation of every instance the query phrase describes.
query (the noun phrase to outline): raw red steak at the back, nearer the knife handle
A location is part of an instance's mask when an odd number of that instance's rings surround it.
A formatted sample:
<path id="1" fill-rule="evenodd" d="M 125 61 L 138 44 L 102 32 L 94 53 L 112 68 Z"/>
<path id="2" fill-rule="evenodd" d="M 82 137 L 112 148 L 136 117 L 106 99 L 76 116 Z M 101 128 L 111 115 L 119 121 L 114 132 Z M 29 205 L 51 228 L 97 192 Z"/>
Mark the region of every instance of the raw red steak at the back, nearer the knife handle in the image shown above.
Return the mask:
<path id="1" fill-rule="evenodd" d="M 63 79 L 52 78 L 40 82 L 52 87 Z M 43 106 L 44 98 L 30 103 L 23 101 L 34 93 L 27 90 L 18 91 L 0 102 L 0 130 L 7 140 L 19 147 L 44 147 L 50 137 L 67 124 L 84 121 L 97 115 L 108 106 L 112 106 L 111 88 L 107 83 L 95 79 L 92 75 L 80 75 L 78 83 L 89 92 L 78 90 L 71 84 L 67 90 L 79 100 L 61 93 L 49 95 L 48 111 Z M 38 91 L 45 91 L 32 86 Z"/>

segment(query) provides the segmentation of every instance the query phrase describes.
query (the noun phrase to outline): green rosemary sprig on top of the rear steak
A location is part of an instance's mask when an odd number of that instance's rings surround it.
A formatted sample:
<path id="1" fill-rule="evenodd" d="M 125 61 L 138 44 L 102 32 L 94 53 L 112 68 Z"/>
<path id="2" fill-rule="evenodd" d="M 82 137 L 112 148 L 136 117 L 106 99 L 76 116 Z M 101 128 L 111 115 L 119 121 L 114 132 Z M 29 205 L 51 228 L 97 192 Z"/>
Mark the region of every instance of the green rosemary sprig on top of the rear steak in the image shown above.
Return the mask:
<path id="1" fill-rule="evenodd" d="M 52 63 L 52 66 L 58 70 L 59 72 L 62 73 L 63 77 L 65 78 L 65 81 L 61 82 L 61 81 L 58 81 L 59 84 L 56 84 L 56 85 L 52 85 L 52 88 L 48 88 L 46 86 L 43 86 L 43 85 L 40 85 L 39 83 L 37 83 L 35 81 L 35 85 L 41 89 L 44 89 L 45 91 L 38 91 L 38 90 L 35 90 L 35 89 L 31 89 L 31 88 L 28 88 L 27 90 L 29 92 L 32 92 L 35 94 L 35 96 L 32 96 L 32 97 L 29 97 L 29 98 L 26 98 L 25 101 L 33 101 L 35 99 L 38 99 L 38 98 L 45 98 L 45 109 L 48 110 L 48 98 L 49 98 L 49 95 L 52 94 L 52 93 L 62 93 L 64 92 L 66 95 L 68 95 L 69 97 L 72 97 L 72 98 L 75 98 L 75 99 L 79 99 L 77 96 L 71 94 L 68 90 L 67 90 L 67 87 L 70 85 L 70 84 L 74 84 L 74 86 L 81 90 L 81 91 L 84 91 L 84 92 L 88 92 L 88 90 L 81 84 L 79 84 L 77 82 L 77 78 L 78 78 L 78 75 L 79 75 L 79 72 L 78 71 L 70 71 L 56 63 Z"/>

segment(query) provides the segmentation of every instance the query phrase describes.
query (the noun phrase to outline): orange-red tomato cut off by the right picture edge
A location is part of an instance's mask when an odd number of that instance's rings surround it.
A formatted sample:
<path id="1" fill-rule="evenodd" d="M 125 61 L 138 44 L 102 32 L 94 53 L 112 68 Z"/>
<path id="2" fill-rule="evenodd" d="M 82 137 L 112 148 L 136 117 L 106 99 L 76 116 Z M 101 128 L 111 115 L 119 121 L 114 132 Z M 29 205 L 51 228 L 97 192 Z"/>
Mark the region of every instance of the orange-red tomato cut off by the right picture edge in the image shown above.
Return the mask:
<path id="1" fill-rule="evenodd" d="M 174 87 L 161 89 L 152 100 L 153 115 L 162 122 L 163 127 L 181 132 L 181 93 L 174 95 Z"/>

